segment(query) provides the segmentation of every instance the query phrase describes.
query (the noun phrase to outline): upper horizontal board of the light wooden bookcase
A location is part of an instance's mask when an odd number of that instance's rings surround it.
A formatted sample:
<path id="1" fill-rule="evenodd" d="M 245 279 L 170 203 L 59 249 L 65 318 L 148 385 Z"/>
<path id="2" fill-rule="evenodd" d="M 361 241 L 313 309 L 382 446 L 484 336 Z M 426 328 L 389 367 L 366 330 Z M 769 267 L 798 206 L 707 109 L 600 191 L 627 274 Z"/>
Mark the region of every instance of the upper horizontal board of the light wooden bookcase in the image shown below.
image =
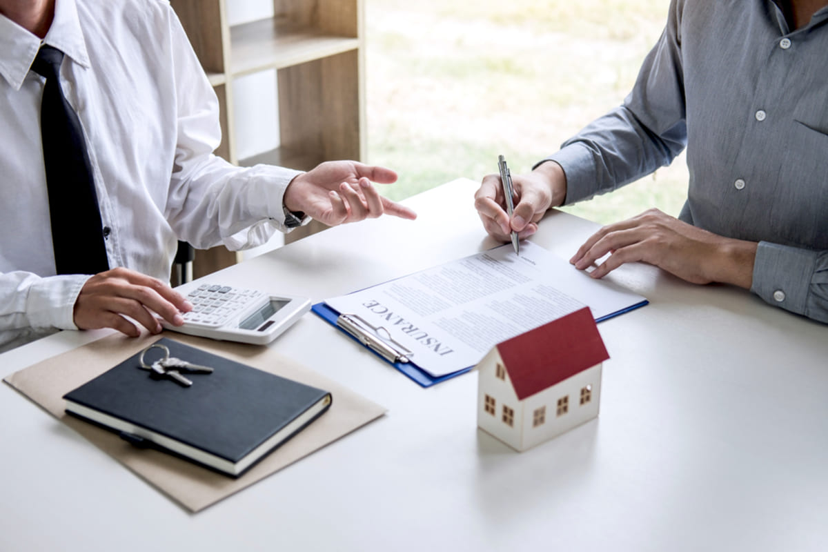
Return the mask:
<path id="1" fill-rule="evenodd" d="M 357 48 L 359 39 L 352 36 L 261 19 L 230 27 L 230 73 L 282 69 Z"/>

